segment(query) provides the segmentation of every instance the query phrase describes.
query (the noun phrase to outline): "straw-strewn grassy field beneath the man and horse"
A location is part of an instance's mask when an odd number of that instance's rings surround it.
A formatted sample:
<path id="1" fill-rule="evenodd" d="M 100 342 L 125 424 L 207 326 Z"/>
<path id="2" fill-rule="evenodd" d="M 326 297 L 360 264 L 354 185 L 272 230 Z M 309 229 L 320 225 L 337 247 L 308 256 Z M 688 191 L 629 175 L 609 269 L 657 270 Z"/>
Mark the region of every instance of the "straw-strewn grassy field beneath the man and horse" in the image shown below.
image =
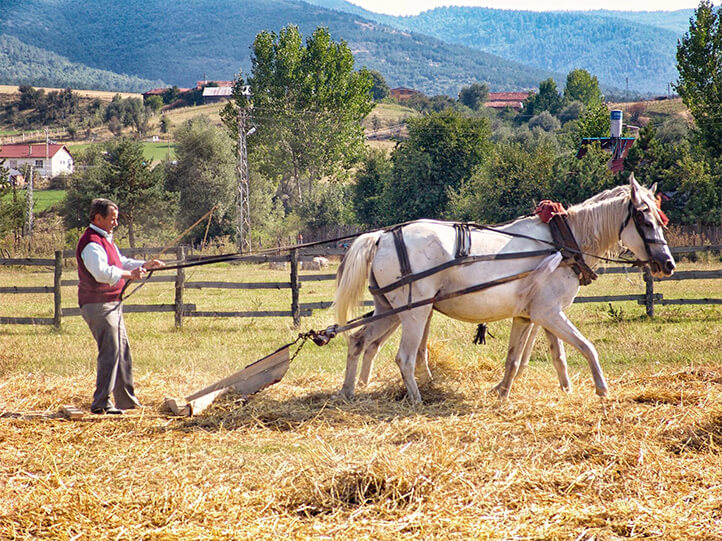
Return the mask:
<path id="1" fill-rule="evenodd" d="M 719 268 L 719 261 L 681 269 Z M 192 280 L 286 279 L 218 265 Z M 66 277 L 73 271 L 67 270 Z M 47 285 L 49 273 L 0 267 L 2 285 Z M 602 276 L 583 295 L 641 293 L 638 274 Z M 170 303 L 149 284 L 129 303 Z M 667 298 L 719 297 L 714 281 L 667 282 Z M 302 302 L 332 284 L 305 282 Z M 64 306 L 73 306 L 73 288 Z M 199 309 L 287 307 L 287 291 L 189 290 Z M 0 315 L 52 313 L 49 295 L 2 295 Z M 295 339 L 289 319 L 126 316 L 146 408 L 121 418 L 87 411 L 94 343 L 79 318 L 0 326 L 1 539 L 720 539 L 722 309 L 635 303 L 575 305 L 610 386 L 600 401 L 569 352 L 574 389 L 559 390 L 540 340 L 511 397 L 488 390 L 503 370 L 508 323 L 471 344 L 474 326 L 436 315 L 434 380 L 411 406 L 385 346 L 375 379 L 339 400 L 345 346 L 308 343 L 277 385 L 247 402 L 227 396 L 191 419 L 159 411 Z M 301 330 L 333 322 L 328 311 Z M 33 415 L 35 412 L 35 415 Z"/>

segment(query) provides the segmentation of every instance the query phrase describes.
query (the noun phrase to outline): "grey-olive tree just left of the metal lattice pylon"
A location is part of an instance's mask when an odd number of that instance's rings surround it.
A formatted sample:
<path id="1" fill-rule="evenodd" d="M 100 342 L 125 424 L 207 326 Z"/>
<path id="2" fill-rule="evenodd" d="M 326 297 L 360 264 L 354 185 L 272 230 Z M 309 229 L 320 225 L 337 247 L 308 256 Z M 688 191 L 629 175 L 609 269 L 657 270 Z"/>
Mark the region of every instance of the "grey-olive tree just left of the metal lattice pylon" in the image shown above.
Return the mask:
<path id="1" fill-rule="evenodd" d="M 178 228 L 185 230 L 213 207 L 213 236 L 234 230 L 235 151 L 224 130 L 206 116 L 184 122 L 175 132 L 176 163 L 169 164 L 166 189 L 179 195 Z M 195 234 L 202 238 L 205 224 Z M 193 233 L 193 232 L 191 232 Z"/>

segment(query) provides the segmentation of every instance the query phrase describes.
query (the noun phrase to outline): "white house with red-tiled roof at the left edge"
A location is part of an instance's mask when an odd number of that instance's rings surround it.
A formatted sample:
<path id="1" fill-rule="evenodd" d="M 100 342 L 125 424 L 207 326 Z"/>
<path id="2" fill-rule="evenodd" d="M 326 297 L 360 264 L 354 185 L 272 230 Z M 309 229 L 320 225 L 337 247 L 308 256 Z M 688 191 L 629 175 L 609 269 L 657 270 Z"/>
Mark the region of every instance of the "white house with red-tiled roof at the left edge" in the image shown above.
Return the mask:
<path id="1" fill-rule="evenodd" d="M 74 169 L 73 156 L 65 145 L 57 143 L 2 145 L 0 163 L 11 173 L 30 165 L 36 175 L 46 178 L 72 173 Z"/>

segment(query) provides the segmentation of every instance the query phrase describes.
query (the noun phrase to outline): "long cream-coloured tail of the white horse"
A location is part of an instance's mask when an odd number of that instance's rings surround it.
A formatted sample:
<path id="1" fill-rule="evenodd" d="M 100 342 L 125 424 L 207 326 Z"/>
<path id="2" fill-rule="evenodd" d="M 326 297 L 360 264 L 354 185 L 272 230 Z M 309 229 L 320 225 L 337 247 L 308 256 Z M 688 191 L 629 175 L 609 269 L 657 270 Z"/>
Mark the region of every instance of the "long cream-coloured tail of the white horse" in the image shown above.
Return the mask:
<path id="1" fill-rule="evenodd" d="M 336 295 L 333 307 L 336 322 L 345 325 L 348 313 L 361 302 L 364 288 L 371 272 L 371 262 L 376 254 L 376 244 L 383 231 L 364 233 L 346 252 L 336 273 Z"/>

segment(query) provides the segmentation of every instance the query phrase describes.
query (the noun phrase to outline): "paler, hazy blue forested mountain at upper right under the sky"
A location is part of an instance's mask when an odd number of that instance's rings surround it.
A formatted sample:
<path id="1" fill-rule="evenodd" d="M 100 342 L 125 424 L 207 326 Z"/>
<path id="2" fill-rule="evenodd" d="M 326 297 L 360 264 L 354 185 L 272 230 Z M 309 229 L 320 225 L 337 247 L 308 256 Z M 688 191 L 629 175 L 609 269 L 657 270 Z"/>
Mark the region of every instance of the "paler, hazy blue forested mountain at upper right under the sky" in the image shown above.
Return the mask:
<path id="1" fill-rule="evenodd" d="M 677 79 L 677 39 L 693 10 L 534 12 L 446 7 L 416 16 L 375 14 L 344 0 L 309 0 L 551 71 L 583 68 L 607 87 L 662 94 Z"/>

